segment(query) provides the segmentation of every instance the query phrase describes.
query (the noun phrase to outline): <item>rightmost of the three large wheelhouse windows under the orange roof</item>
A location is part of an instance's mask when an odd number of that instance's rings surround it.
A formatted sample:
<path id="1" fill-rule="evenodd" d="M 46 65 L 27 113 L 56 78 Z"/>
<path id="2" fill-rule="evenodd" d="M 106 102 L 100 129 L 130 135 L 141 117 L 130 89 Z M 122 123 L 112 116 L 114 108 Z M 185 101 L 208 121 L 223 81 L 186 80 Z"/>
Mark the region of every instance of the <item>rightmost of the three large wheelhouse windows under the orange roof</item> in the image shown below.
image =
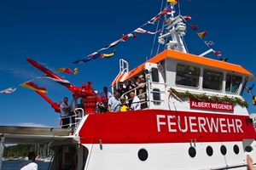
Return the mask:
<path id="1" fill-rule="evenodd" d="M 234 75 L 226 76 L 226 92 L 237 93 L 238 88 L 241 84 L 241 77 L 237 77 Z"/>

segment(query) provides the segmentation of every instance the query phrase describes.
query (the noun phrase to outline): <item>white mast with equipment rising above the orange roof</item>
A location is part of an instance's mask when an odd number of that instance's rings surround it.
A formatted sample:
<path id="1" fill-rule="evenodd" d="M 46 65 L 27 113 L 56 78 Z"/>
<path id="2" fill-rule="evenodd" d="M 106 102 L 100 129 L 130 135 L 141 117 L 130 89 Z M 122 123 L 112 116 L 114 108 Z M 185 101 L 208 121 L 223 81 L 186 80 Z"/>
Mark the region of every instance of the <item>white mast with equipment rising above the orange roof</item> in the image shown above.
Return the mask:
<path id="1" fill-rule="evenodd" d="M 179 14 L 175 17 L 174 6 L 177 0 L 167 0 L 170 3 L 170 8 L 166 7 L 167 14 L 165 20 L 166 34 L 160 34 L 158 42 L 162 45 L 166 44 L 166 48 L 187 53 L 183 43 L 183 36 L 185 36 L 186 25 L 183 23 L 183 17 Z M 171 14 L 169 17 L 168 15 Z M 170 37 L 170 38 L 168 38 Z"/>

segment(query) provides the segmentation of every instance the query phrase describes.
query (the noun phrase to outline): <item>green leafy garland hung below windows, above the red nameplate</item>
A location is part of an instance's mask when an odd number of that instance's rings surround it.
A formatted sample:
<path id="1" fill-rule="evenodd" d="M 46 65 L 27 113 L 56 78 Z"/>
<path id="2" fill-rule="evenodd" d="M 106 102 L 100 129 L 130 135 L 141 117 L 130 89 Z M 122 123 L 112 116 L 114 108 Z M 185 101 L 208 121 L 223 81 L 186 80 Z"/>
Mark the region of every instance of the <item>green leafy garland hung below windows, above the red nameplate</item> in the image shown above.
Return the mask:
<path id="1" fill-rule="evenodd" d="M 247 101 L 244 99 L 239 99 L 239 98 L 229 98 L 228 96 L 224 97 L 218 97 L 216 95 L 206 95 L 206 94 L 191 94 L 189 91 L 186 92 L 177 92 L 174 88 L 171 88 L 172 94 L 175 94 L 179 98 L 189 98 L 193 100 L 205 100 L 207 102 L 219 102 L 219 103 L 230 103 L 233 105 L 241 105 L 248 107 Z"/>

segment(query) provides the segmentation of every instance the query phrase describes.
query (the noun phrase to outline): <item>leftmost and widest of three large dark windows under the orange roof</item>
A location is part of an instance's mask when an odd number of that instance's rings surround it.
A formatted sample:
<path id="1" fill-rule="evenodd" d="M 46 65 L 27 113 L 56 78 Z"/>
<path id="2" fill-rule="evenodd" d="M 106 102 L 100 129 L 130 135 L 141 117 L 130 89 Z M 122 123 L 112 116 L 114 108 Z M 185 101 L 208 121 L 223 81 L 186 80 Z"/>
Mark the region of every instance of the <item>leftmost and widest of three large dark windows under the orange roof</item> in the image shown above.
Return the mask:
<path id="1" fill-rule="evenodd" d="M 176 84 L 190 87 L 198 87 L 200 69 L 191 65 L 177 64 Z"/>

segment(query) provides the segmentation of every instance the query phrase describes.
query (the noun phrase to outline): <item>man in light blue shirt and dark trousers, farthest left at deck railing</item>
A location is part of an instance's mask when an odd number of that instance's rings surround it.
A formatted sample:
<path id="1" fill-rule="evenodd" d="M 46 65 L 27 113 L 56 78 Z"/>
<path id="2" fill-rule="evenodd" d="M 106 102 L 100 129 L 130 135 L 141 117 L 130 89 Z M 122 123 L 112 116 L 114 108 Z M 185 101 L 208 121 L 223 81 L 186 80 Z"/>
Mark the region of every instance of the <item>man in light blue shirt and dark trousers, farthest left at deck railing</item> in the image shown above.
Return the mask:
<path id="1" fill-rule="evenodd" d="M 65 97 L 63 101 L 61 102 L 60 108 L 61 108 L 61 128 L 67 128 L 69 126 L 69 112 L 70 107 L 68 106 L 68 98 Z"/>

